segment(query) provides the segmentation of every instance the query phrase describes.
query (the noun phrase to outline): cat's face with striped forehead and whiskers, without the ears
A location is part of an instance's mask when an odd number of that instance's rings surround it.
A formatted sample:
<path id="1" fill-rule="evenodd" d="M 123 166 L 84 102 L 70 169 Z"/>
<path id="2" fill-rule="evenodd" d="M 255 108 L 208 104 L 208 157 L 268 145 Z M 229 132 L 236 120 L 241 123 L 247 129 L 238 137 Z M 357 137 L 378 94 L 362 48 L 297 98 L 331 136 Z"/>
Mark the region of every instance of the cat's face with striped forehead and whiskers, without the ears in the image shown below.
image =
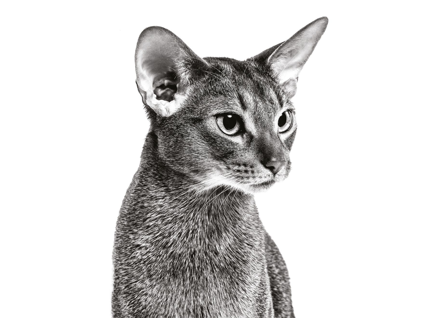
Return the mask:
<path id="1" fill-rule="evenodd" d="M 276 77 L 255 61 L 205 60 L 215 72 L 198 74 L 179 111 L 156 117 L 162 157 L 198 181 L 248 192 L 285 179 L 296 117 Z"/>

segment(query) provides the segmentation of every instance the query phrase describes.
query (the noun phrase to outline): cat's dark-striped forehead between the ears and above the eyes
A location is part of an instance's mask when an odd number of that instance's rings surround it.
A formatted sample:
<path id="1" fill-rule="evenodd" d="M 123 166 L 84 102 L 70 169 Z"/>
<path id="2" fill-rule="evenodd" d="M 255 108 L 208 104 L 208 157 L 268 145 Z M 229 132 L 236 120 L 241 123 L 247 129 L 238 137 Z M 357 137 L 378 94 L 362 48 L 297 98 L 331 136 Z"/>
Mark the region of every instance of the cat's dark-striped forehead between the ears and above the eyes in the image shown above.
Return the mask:
<path id="1" fill-rule="evenodd" d="M 205 60 L 211 65 L 205 74 L 207 91 L 223 97 L 223 102 L 239 109 L 240 115 L 261 124 L 269 122 L 287 101 L 270 70 L 256 62 L 226 58 Z"/>

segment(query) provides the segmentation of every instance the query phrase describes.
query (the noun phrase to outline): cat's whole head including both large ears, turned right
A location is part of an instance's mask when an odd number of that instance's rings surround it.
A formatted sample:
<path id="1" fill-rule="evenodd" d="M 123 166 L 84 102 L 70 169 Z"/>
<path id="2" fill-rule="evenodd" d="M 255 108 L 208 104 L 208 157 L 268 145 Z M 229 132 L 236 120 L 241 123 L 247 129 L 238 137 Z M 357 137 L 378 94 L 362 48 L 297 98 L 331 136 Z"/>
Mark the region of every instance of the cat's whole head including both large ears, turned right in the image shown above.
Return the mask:
<path id="1" fill-rule="evenodd" d="M 250 193 L 285 179 L 296 134 L 290 99 L 327 22 L 319 18 L 245 61 L 202 59 L 169 30 L 146 28 L 136 82 L 161 160 L 207 186 Z"/>

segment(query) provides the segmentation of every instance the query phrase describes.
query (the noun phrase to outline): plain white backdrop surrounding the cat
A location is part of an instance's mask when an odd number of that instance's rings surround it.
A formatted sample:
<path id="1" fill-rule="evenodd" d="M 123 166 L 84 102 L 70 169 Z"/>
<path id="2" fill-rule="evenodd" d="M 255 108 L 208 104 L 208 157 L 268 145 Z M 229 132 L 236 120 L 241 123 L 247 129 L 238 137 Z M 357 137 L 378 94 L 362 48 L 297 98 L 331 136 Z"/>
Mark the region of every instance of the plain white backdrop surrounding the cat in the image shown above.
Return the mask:
<path id="1" fill-rule="evenodd" d="M 294 98 L 292 172 L 259 212 L 296 317 L 423 317 L 421 11 L 390 3 L 3 4 L 1 316 L 110 317 L 115 221 L 148 130 L 145 27 L 246 59 L 326 15 Z"/>

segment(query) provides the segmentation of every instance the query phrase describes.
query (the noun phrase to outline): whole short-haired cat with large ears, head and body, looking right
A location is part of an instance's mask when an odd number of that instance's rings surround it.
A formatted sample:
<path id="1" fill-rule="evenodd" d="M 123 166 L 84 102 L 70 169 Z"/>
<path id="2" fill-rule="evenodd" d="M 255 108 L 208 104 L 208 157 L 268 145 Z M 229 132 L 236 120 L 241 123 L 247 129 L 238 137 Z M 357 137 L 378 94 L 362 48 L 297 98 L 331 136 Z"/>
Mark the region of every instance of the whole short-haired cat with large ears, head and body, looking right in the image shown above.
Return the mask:
<path id="1" fill-rule="evenodd" d="M 245 61 L 142 31 L 136 83 L 151 126 L 117 220 L 114 318 L 294 317 L 253 194 L 290 171 L 291 98 L 327 23 Z"/>

